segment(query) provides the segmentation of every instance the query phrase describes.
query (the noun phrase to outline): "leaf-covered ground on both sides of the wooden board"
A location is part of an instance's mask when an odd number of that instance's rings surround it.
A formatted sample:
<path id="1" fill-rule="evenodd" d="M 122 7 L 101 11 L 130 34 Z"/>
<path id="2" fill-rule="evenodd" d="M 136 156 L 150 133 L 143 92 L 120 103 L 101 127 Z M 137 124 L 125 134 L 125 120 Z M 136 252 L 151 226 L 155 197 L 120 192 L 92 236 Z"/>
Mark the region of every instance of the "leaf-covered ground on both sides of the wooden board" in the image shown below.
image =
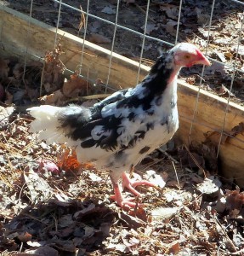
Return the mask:
<path id="1" fill-rule="evenodd" d="M 30 11 L 27 5 L 30 1 L 5 2 L 22 12 Z M 82 4 L 84 10 L 87 6 L 82 1 L 65 3 L 78 9 Z M 90 12 L 114 19 L 109 13 L 113 12 L 115 3 L 91 1 Z M 177 3 L 151 3 L 151 36 L 174 43 L 175 27 L 171 25 Z M 205 46 L 210 3 L 212 1 L 185 3 L 179 41 L 188 38 Z M 145 5 L 145 1 L 122 2 L 120 24 L 143 32 Z M 33 16 L 55 25 L 58 7 L 52 1 L 39 1 L 33 5 Z M 234 3 L 216 1 L 209 56 L 232 63 L 235 58 L 233 42 L 238 38 L 241 17 L 240 8 Z M 62 29 L 77 35 L 80 22 L 77 12 L 62 9 Z M 88 23 L 88 38 L 99 34 L 103 40 L 111 40 L 113 27 L 95 22 L 91 19 Z M 139 44 L 132 44 L 135 41 L 131 37 L 130 32 L 118 30 L 115 49 L 139 60 Z M 111 42 L 103 45 L 110 48 Z M 146 40 L 144 59 L 155 60 L 159 46 L 162 45 Z M 64 81 L 61 73 L 65 67 L 59 62 L 61 42 L 56 51 L 47 51 L 44 67 L 36 62 L 27 65 L 25 83 L 21 76 L 23 65 L 18 60 L 9 56 L 0 63 L 3 87 L 0 88 L 1 255 L 243 255 L 244 194 L 218 177 L 218 162 L 209 157 L 209 152 L 214 150 L 211 145 L 176 148 L 171 142 L 163 148 L 167 152 L 159 148 L 146 157 L 135 172 L 157 183 L 159 189 L 139 188 L 143 197 L 135 200 L 141 201 L 144 208 L 122 211 L 111 200 L 112 187 L 107 172 L 99 172 L 89 163 L 80 165 L 71 148 L 55 143 L 49 146 L 29 133 L 32 119 L 25 110 L 26 106 L 39 101 L 42 72 L 44 96 L 41 102 L 54 101 L 48 97 L 51 92 L 56 92 L 58 103 L 64 99 L 77 102 L 70 88 L 78 88 L 79 96 L 86 95 L 87 89 L 89 95 L 102 93 L 101 88 L 94 91 L 92 87 L 87 88 L 86 83 L 84 86 L 77 74 Z M 236 56 L 236 65 L 241 70 L 242 55 Z M 203 81 L 207 90 L 217 91 L 216 84 L 230 86 L 231 70 L 216 65 L 212 68 L 207 70 Z M 187 75 L 188 82 L 197 84 L 200 74 L 201 70 L 184 69 L 181 76 Z M 241 83 L 241 75 L 236 73 L 235 100 L 240 102 Z M 79 102 L 86 105 L 97 100 L 79 98 Z M 16 107 L 12 107 L 12 103 Z M 123 194 L 131 196 L 127 191 Z"/>

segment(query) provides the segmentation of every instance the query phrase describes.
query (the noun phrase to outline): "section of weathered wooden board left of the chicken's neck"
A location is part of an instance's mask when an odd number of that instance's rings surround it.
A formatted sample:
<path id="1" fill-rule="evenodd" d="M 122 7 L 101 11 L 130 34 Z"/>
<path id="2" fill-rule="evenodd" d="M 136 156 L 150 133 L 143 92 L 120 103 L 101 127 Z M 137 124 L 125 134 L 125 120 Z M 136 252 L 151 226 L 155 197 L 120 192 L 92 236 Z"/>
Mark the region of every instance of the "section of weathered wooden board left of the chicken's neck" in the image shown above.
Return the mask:
<path id="1" fill-rule="evenodd" d="M 38 59 L 44 57 L 47 50 L 54 49 L 54 38 L 56 28 L 32 19 L 13 9 L 0 5 L 0 27 L 1 42 L 0 50 L 3 55 L 17 55 L 24 58 Z M 62 49 L 65 54 L 61 55 L 61 60 L 65 67 L 75 70 L 81 63 L 82 44 L 84 44 L 84 54 L 82 60 L 82 75 L 91 80 L 102 79 L 107 82 L 109 74 L 109 61 L 111 59 L 111 73 L 109 84 L 116 89 L 136 84 L 139 63 L 129 60 L 122 55 L 112 53 L 96 44 L 77 38 L 62 30 L 57 31 L 58 38 L 61 39 Z M 4 47 L 4 49 L 3 49 Z M 142 65 L 142 76 L 149 67 Z"/>

